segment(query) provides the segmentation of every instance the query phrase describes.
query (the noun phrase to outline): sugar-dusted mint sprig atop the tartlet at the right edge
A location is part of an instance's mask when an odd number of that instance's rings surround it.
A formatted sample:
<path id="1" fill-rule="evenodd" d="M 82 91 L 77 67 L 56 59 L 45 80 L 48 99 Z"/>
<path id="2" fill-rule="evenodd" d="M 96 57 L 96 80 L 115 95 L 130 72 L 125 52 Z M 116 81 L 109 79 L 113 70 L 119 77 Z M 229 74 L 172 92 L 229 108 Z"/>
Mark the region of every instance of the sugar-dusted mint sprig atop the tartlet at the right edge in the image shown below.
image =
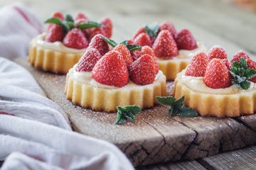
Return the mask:
<path id="1" fill-rule="evenodd" d="M 232 84 L 247 90 L 251 84 L 249 79 L 256 76 L 256 70 L 249 69 L 246 60 L 240 58 L 239 62 L 233 62 L 230 74 L 233 76 Z"/>

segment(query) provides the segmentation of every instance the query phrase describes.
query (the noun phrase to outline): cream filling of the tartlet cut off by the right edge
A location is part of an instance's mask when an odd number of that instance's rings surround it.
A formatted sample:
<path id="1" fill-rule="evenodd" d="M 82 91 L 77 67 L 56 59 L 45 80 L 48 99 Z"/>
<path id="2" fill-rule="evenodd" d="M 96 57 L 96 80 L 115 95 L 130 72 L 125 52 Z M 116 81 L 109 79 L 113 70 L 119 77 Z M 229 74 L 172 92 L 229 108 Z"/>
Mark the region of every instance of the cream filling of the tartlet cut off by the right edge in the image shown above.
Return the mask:
<path id="1" fill-rule="evenodd" d="M 250 88 L 247 90 L 240 89 L 235 84 L 224 89 L 212 89 L 206 86 L 203 81 L 203 77 L 185 76 L 185 70 L 181 72 L 178 79 L 181 79 L 182 83 L 186 85 L 189 89 L 205 94 L 240 94 L 256 91 L 256 84 L 253 82 L 251 82 Z"/>

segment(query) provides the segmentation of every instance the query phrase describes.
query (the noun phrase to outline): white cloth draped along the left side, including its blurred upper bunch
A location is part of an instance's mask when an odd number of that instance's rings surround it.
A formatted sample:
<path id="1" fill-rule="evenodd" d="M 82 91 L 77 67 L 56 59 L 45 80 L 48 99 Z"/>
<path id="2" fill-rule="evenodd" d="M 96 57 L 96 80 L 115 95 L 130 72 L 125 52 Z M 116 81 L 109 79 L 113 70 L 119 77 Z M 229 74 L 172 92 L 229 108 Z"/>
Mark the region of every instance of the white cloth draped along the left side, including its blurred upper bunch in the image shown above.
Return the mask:
<path id="1" fill-rule="evenodd" d="M 26 56 L 41 27 L 33 13 L 18 4 L 1 8 L 0 16 L 1 169 L 134 169 L 114 145 L 73 132 L 31 74 L 6 59 Z"/>

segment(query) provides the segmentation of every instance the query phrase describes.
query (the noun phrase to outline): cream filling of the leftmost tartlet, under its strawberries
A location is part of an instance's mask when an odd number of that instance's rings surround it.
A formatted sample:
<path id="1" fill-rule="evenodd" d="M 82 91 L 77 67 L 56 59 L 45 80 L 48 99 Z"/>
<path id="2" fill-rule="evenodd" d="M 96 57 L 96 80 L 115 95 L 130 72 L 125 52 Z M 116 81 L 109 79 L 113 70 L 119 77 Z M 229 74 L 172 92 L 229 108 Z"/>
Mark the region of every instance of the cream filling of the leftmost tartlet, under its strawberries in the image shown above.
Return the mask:
<path id="1" fill-rule="evenodd" d="M 85 52 L 86 48 L 83 49 L 75 49 L 70 47 L 65 47 L 62 42 L 56 41 L 56 42 L 46 42 L 44 39 L 46 37 L 46 33 L 42 33 L 36 38 L 33 38 L 31 41 L 31 45 L 34 45 L 36 47 L 43 47 L 45 49 L 59 51 L 59 52 L 73 52 L 73 53 L 83 53 Z"/>

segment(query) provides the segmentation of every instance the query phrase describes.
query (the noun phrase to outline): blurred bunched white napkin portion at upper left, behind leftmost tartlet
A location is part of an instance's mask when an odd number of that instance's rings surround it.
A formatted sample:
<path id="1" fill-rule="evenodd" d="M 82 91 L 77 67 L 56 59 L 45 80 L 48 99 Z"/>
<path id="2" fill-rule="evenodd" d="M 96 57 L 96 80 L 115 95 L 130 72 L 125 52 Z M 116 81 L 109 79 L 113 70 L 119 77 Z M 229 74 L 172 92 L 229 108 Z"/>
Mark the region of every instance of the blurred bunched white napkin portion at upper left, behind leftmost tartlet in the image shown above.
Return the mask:
<path id="1" fill-rule="evenodd" d="M 17 3 L 0 9 L 0 56 L 13 60 L 28 55 L 28 44 L 43 24 L 23 4 Z"/>

